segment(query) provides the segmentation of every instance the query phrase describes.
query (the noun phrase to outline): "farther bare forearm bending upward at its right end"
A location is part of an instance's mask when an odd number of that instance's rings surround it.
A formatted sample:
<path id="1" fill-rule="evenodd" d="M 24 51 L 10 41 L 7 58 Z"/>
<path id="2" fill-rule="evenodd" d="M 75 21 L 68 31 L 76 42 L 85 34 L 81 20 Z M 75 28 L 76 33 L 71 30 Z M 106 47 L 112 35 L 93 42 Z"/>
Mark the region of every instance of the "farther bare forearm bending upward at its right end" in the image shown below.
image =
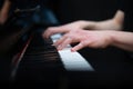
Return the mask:
<path id="1" fill-rule="evenodd" d="M 122 30 L 124 21 L 124 12 L 117 10 L 115 16 L 103 21 L 78 21 L 81 28 L 88 30 Z"/>

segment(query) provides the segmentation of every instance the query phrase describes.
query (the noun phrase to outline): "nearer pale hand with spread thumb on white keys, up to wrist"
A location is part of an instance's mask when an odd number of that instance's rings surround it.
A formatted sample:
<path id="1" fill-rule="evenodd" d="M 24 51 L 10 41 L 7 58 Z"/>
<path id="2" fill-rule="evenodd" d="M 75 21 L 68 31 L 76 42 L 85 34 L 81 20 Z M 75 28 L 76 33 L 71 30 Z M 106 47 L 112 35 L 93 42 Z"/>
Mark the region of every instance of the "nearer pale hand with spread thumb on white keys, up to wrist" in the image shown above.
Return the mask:
<path id="1" fill-rule="evenodd" d="M 62 50 L 68 44 L 76 42 L 71 51 L 76 51 L 85 47 L 90 48 L 105 48 L 112 42 L 110 31 L 89 31 L 76 30 L 65 33 L 61 39 L 53 43 L 58 50 Z"/>

